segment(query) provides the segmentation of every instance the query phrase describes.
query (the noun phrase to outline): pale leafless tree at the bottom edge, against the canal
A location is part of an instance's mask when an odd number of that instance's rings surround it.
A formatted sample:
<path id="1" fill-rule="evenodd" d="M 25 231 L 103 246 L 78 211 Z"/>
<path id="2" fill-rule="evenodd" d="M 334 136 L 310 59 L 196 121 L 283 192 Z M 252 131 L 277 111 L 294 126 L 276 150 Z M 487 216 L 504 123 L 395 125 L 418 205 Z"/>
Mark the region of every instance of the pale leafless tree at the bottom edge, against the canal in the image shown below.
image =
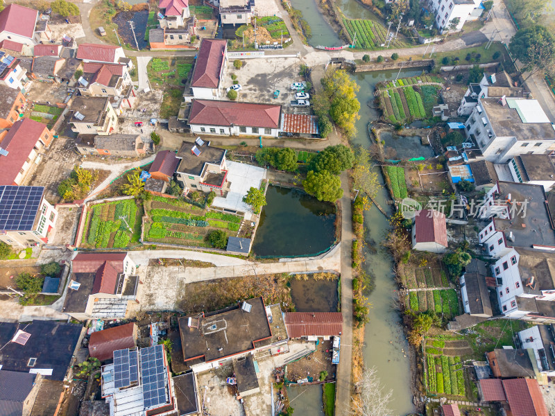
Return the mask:
<path id="1" fill-rule="evenodd" d="M 364 368 L 362 378 L 356 384 L 359 400 L 353 401 L 352 408 L 355 415 L 388 416 L 393 411 L 388 408 L 393 396 L 393 390 L 385 391 L 384 385 L 377 377 L 376 367 Z"/>

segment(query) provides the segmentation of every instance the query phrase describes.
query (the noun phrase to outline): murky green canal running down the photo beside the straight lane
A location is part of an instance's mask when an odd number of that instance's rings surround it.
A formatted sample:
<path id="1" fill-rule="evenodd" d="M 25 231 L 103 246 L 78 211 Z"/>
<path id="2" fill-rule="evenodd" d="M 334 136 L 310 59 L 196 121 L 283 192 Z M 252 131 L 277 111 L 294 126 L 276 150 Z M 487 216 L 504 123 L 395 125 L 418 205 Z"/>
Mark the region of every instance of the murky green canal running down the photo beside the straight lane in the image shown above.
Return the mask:
<path id="1" fill-rule="evenodd" d="M 421 69 L 401 71 L 401 77 L 417 76 Z M 357 94 L 361 103 L 360 119 L 357 121 L 357 137 L 354 144 L 368 148 L 368 122 L 376 121 L 379 112 L 374 107 L 374 88 L 383 80 L 391 80 L 398 71 L 373 71 L 356 73 L 352 78 L 357 81 L 360 91 Z M 370 104 L 370 105 L 368 105 Z M 379 179 L 383 183 L 381 171 Z M 382 207 L 388 207 L 388 194 L 385 188 L 379 192 L 377 202 Z M 364 333 L 363 356 L 367 367 L 376 367 L 377 374 L 386 390 L 393 390 L 393 400 L 390 408 L 394 415 L 407 415 L 413 412 L 411 394 L 411 368 L 407 354 L 408 344 L 404 337 L 401 318 L 398 311 L 393 309 L 397 286 L 393 279 L 393 259 L 381 243 L 389 229 L 387 218 L 375 208 L 371 208 L 364 215 L 364 225 L 368 229 L 366 241 L 375 248 L 375 252 L 366 252 L 366 271 L 372 279 L 373 290 L 368 295 L 370 307 L 370 322 Z"/>

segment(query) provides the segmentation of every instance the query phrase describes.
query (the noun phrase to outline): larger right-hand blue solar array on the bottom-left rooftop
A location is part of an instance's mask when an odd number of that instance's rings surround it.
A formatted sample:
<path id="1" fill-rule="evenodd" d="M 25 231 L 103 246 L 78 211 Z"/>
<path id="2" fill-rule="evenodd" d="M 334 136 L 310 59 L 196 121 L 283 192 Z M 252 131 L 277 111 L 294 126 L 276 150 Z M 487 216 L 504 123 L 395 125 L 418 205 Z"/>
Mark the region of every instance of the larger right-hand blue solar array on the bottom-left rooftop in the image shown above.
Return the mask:
<path id="1" fill-rule="evenodd" d="M 163 346 L 155 345 L 141 349 L 141 376 L 145 408 L 166 403 L 164 375 L 166 375 L 166 370 Z"/>

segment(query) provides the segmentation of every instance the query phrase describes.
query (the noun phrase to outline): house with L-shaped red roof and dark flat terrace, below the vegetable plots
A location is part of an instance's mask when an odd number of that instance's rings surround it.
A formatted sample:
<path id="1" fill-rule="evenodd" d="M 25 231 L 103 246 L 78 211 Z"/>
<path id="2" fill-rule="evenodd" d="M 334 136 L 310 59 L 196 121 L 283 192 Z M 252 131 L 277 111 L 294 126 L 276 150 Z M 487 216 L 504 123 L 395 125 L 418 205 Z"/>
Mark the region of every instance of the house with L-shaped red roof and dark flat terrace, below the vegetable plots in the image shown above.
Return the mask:
<path id="1" fill-rule="evenodd" d="M 124 318 L 137 298 L 137 266 L 126 252 L 78 253 L 62 311 L 76 318 Z"/>

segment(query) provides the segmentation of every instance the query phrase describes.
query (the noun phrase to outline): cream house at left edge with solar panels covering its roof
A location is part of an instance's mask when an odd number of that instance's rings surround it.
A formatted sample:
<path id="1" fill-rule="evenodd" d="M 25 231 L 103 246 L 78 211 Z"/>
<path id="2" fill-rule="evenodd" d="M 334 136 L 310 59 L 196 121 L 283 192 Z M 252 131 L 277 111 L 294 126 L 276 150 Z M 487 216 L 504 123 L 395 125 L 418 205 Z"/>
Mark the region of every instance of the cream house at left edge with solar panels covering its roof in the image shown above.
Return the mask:
<path id="1" fill-rule="evenodd" d="M 17 248 L 48 243 L 57 219 L 44 187 L 0 186 L 0 241 Z"/>

